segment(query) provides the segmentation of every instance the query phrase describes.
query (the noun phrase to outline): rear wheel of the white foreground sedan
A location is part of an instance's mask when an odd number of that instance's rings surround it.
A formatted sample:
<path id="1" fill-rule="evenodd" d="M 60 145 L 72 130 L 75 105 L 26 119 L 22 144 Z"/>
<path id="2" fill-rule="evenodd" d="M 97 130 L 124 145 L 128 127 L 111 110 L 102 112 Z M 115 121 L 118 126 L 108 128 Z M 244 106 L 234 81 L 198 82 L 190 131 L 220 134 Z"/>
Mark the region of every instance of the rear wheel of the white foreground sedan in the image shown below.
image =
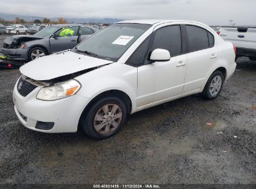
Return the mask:
<path id="1" fill-rule="evenodd" d="M 215 99 L 219 96 L 220 91 L 224 83 L 224 75 L 221 71 L 214 71 L 209 80 L 204 86 L 204 90 L 201 93 L 204 99 Z"/>

